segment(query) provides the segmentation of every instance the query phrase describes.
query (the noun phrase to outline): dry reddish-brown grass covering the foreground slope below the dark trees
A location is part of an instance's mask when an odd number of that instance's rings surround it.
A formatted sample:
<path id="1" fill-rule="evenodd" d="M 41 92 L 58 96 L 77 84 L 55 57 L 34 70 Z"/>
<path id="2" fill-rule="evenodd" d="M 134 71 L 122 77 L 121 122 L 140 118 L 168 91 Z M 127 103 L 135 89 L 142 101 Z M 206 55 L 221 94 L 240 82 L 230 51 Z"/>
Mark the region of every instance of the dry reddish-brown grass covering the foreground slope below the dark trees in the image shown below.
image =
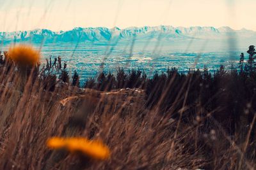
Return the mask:
<path id="1" fill-rule="evenodd" d="M 238 138 L 225 134 L 214 120 L 216 129 L 204 134 L 200 122 L 184 124 L 170 118 L 172 113 L 149 110 L 142 90 L 107 93 L 64 85 L 48 92 L 39 78 L 30 75 L 20 86 L 23 80 L 13 67 L 8 73 L 7 67 L 1 69 L 0 169 L 256 167 L 244 155 L 247 138 L 239 146 Z M 49 150 L 46 141 L 52 136 L 100 139 L 109 146 L 111 157 L 95 161 Z"/>

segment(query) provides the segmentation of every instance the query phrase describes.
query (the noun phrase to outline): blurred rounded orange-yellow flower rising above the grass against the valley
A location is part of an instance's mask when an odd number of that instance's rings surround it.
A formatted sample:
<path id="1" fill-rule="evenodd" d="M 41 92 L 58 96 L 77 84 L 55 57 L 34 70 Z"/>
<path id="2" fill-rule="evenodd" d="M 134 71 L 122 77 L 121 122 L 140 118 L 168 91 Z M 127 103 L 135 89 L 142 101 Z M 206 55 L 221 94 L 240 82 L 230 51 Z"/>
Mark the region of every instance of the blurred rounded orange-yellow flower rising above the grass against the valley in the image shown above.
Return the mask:
<path id="1" fill-rule="evenodd" d="M 20 66 L 36 66 L 40 62 L 40 52 L 31 45 L 15 45 L 8 50 L 7 57 Z"/>

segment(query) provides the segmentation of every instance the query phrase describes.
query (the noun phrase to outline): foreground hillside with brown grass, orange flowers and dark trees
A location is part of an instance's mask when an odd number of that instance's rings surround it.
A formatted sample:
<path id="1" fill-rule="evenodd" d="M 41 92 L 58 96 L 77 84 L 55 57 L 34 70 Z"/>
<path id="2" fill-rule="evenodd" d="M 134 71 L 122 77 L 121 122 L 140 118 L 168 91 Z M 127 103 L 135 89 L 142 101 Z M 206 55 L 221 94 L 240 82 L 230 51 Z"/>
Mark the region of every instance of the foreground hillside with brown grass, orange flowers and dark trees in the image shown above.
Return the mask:
<path id="1" fill-rule="evenodd" d="M 60 57 L 39 67 L 32 46 L 10 48 L 0 57 L 0 169 L 255 169 L 255 51 L 239 69 L 150 78 L 120 68 L 81 88 Z"/>

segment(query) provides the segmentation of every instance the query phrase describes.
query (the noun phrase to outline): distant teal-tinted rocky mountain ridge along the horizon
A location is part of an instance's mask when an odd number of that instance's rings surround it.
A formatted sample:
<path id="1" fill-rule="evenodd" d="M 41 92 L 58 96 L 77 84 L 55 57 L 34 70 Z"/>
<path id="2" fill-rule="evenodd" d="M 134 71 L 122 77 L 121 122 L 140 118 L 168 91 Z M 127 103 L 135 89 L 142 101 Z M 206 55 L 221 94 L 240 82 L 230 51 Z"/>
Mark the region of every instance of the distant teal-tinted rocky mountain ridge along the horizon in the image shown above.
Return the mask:
<path id="1" fill-rule="evenodd" d="M 70 31 L 51 31 L 34 29 L 32 31 L 0 32 L 0 41 L 32 41 L 34 43 L 52 42 L 106 42 L 106 41 L 170 41 L 172 39 L 256 39 L 256 32 L 247 29 L 234 30 L 230 27 L 76 27 Z"/>

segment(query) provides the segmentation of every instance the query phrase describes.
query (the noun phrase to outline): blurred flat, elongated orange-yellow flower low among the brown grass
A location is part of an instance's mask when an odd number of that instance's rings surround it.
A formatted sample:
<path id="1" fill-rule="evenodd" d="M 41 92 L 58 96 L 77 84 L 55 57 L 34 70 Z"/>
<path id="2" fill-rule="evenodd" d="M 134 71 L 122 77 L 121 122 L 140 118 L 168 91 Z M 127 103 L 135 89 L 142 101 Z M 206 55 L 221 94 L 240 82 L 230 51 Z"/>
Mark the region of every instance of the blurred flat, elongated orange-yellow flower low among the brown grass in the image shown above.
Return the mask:
<path id="1" fill-rule="evenodd" d="M 90 141 L 86 138 L 50 138 L 47 146 L 51 149 L 65 149 L 71 153 L 83 153 L 93 159 L 108 159 L 110 151 L 101 141 Z"/>

